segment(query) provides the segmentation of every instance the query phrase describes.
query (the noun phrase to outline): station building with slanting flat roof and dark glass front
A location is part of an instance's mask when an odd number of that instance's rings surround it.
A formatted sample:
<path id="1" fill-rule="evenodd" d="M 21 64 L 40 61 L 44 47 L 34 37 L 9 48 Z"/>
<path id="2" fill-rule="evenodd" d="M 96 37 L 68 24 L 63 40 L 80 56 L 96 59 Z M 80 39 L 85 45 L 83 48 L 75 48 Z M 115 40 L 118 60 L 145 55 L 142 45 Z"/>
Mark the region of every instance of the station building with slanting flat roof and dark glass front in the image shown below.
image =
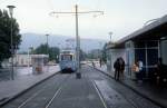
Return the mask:
<path id="1" fill-rule="evenodd" d="M 125 75 L 134 78 L 131 67 L 136 60 L 144 63 L 144 77 L 149 79 L 155 69 L 158 58 L 167 65 L 167 16 L 143 27 L 131 35 L 120 39 L 116 43 L 107 46 L 107 68 L 114 71 L 114 62 L 122 57 L 126 62 Z"/>

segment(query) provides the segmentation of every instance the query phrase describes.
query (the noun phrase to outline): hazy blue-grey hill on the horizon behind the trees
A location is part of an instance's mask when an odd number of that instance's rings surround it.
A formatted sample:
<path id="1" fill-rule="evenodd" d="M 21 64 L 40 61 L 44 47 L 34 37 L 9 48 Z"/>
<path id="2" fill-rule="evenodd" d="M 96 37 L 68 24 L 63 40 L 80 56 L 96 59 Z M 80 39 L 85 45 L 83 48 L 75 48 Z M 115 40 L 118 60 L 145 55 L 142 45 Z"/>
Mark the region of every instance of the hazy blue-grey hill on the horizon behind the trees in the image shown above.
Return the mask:
<path id="1" fill-rule="evenodd" d="M 28 51 L 29 47 L 37 48 L 41 43 L 47 42 L 47 37 L 40 33 L 22 33 L 22 42 L 19 51 Z M 50 35 L 48 39 L 49 46 L 59 48 L 75 48 L 75 37 Z M 92 49 L 101 49 L 106 40 L 100 39 L 80 39 L 80 47 L 84 51 L 88 52 Z"/>

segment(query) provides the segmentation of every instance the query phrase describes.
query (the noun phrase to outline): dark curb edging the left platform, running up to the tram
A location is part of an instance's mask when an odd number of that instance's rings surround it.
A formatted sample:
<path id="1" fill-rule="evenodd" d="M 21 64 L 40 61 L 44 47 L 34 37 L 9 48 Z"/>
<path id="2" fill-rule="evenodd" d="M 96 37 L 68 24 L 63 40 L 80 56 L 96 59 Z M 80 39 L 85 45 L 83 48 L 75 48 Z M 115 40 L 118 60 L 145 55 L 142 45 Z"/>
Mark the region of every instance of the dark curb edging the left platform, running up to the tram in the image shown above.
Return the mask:
<path id="1" fill-rule="evenodd" d="M 14 96 L 12 96 L 12 97 L 6 99 L 4 101 L 0 102 L 0 107 L 3 107 L 3 106 L 7 105 L 8 102 L 12 101 L 13 99 L 18 98 L 19 96 L 23 95 L 23 94 L 27 92 L 28 90 L 35 88 L 36 86 L 42 84 L 43 81 L 46 81 L 47 79 L 50 79 L 51 77 L 56 76 L 56 75 L 59 73 L 59 72 L 60 72 L 60 71 L 55 72 L 55 73 L 52 73 L 52 75 L 50 75 L 50 76 L 43 78 L 42 80 L 40 80 L 40 81 L 33 84 L 32 86 L 30 86 L 30 87 L 23 89 L 23 90 L 20 91 L 19 94 L 17 94 L 17 95 L 14 95 Z"/>

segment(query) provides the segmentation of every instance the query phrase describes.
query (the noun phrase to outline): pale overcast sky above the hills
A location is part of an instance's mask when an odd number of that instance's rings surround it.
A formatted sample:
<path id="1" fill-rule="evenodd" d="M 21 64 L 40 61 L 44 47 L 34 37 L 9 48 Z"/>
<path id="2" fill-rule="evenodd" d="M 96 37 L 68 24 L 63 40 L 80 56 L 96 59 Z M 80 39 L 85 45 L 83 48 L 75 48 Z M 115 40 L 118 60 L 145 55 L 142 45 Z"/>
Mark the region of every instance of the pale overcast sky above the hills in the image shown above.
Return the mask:
<path id="1" fill-rule="evenodd" d="M 167 0 L 0 0 L 0 9 L 14 4 L 13 17 L 20 24 L 21 33 L 53 33 L 75 37 L 75 16 L 49 16 L 52 11 L 104 11 L 104 16 L 79 16 L 81 38 L 118 40 L 141 28 L 150 19 L 167 13 Z"/>

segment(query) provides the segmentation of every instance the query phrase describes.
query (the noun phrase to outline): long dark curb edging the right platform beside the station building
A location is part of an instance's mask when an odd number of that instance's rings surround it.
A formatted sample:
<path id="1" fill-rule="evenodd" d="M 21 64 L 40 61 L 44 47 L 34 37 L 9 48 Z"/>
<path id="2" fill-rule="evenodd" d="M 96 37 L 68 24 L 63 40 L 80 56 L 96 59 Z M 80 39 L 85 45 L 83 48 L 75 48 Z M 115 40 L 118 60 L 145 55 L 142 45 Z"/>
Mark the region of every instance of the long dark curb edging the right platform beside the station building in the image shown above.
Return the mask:
<path id="1" fill-rule="evenodd" d="M 89 67 L 91 67 L 91 66 L 89 66 Z M 94 68 L 94 67 L 91 67 L 91 68 Z M 104 75 L 110 77 L 111 79 L 114 79 L 114 77 L 112 77 L 111 75 L 109 75 L 109 73 L 107 73 L 107 72 L 105 72 L 105 71 L 102 71 L 102 70 L 100 70 L 100 69 L 97 69 L 96 67 L 95 67 L 94 69 L 96 69 L 96 70 L 102 72 Z M 161 107 L 161 108 L 167 108 L 166 106 L 159 104 L 158 101 L 156 101 L 156 100 L 149 98 L 147 95 L 141 94 L 140 91 L 136 90 L 136 89 L 132 88 L 131 86 L 129 86 L 129 85 L 127 85 L 127 84 L 125 84 L 125 82 L 122 82 L 122 81 L 119 81 L 119 82 L 120 82 L 121 85 L 124 85 L 125 87 L 131 89 L 132 91 L 135 91 L 136 94 L 138 94 L 139 96 L 141 96 L 143 98 L 148 99 L 148 100 L 151 101 L 153 104 L 155 104 L 155 105 L 157 105 L 157 106 L 159 106 L 159 107 Z"/>

